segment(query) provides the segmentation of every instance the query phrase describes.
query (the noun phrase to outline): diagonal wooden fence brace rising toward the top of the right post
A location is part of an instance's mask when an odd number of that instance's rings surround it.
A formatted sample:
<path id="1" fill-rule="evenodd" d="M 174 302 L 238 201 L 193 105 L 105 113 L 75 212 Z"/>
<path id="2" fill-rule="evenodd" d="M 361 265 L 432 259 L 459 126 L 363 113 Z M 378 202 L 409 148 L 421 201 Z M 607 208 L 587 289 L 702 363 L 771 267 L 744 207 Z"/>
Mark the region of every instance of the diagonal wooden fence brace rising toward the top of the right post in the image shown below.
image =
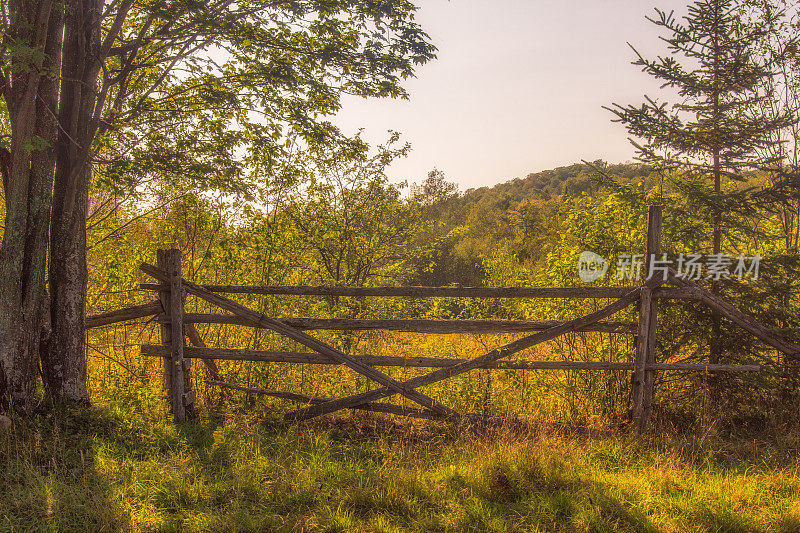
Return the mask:
<path id="1" fill-rule="evenodd" d="M 645 284 L 645 286 L 654 286 L 656 284 L 657 282 L 655 280 L 649 280 Z M 607 306 L 595 311 L 594 313 L 590 313 L 588 315 L 575 318 L 573 320 L 564 322 L 562 324 L 546 329 L 544 331 L 540 331 L 539 333 L 523 337 L 512 343 L 506 344 L 505 346 L 496 348 L 491 352 L 476 357 L 475 359 L 459 363 L 455 366 L 445 367 L 435 372 L 431 372 L 430 374 L 426 374 L 424 376 L 419 376 L 413 379 L 409 379 L 408 381 L 404 381 L 401 385 L 407 389 L 416 389 L 418 387 L 430 385 L 432 383 L 436 383 L 438 381 L 442 381 L 444 379 L 451 378 L 459 374 L 463 374 L 464 372 L 469 372 L 470 370 L 480 368 L 483 365 L 492 363 L 504 357 L 508 357 L 521 350 L 530 348 L 531 346 L 535 346 L 536 344 L 548 341 L 550 339 L 554 339 L 555 337 L 558 337 L 565 333 L 575 331 L 578 328 L 594 324 L 599 320 L 611 316 L 614 313 L 628 307 L 630 304 L 632 304 L 639 298 L 640 293 L 641 293 L 641 288 L 637 287 L 635 289 L 632 289 L 628 294 L 626 294 L 619 300 L 616 300 L 608 304 Z M 309 418 L 314 418 L 316 416 L 333 413 L 341 409 L 349 409 L 357 405 L 362 405 L 367 402 L 380 400 L 381 398 L 386 398 L 393 394 L 395 394 L 395 392 L 390 390 L 388 387 L 382 387 L 380 389 L 375 389 L 369 392 L 355 394 L 353 396 L 347 396 L 345 398 L 339 398 L 337 400 L 317 405 L 312 405 L 304 409 L 291 411 L 289 413 L 286 413 L 284 419 L 288 422 L 298 422 L 302 420 L 307 420 Z"/>

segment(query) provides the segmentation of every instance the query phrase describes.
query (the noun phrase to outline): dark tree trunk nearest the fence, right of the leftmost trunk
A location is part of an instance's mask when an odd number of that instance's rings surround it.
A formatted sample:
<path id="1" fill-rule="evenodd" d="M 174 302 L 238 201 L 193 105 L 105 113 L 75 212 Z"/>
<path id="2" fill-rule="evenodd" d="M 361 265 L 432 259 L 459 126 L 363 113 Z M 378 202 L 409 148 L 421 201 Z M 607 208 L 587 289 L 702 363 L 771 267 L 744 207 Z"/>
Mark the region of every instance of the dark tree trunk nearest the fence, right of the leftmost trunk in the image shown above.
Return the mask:
<path id="1" fill-rule="evenodd" d="M 68 4 L 64 32 L 53 215 L 50 320 L 42 375 L 56 399 L 86 401 L 86 216 L 100 56 L 102 1 Z"/>

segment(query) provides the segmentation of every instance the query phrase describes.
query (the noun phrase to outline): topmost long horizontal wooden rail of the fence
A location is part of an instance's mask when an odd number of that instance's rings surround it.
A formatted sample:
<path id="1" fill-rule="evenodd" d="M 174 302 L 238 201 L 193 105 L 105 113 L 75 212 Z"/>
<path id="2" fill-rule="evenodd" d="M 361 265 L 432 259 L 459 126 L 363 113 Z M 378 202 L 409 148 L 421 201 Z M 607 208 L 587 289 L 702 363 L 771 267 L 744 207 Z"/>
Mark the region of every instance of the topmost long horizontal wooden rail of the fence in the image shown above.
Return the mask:
<path id="1" fill-rule="evenodd" d="M 295 296 L 401 296 L 406 298 L 621 298 L 633 287 L 329 287 L 329 286 L 251 286 L 202 285 L 210 292 L 228 294 Z M 142 283 L 140 289 L 159 291 L 158 283 Z M 656 298 L 689 298 L 697 293 L 663 287 Z"/>

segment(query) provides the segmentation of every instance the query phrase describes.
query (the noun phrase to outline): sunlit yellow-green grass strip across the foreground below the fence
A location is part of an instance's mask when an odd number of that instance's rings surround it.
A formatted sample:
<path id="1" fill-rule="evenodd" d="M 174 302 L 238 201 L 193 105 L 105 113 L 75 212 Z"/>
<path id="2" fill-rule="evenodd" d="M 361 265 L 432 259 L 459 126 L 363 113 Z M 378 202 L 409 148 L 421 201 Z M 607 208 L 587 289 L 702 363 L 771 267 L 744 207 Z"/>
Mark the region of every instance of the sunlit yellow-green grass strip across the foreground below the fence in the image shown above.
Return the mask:
<path id="1" fill-rule="evenodd" d="M 797 435 L 635 440 L 235 412 L 133 391 L 0 435 L 3 531 L 800 531 Z"/>

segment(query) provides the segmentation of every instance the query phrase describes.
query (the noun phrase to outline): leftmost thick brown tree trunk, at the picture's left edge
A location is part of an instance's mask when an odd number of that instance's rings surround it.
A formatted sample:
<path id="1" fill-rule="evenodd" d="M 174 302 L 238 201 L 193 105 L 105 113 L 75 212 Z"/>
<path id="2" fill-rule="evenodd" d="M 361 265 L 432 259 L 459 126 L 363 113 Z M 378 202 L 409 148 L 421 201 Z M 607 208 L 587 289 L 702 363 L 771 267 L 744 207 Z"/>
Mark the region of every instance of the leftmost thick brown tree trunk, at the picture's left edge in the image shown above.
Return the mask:
<path id="1" fill-rule="evenodd" d="M 3 80 L 11 122 L 4 169 L 5 230 L 0 246 L 0 404 L 33 399 L 46 323 L 47 232 L 52 203 L 62 18 L 52 0 L 9 5 L 12 77 Z M 39 54 L 28 54 L 38 50 Z M 41 54 L 41 52 L 44 52 Z"/>

